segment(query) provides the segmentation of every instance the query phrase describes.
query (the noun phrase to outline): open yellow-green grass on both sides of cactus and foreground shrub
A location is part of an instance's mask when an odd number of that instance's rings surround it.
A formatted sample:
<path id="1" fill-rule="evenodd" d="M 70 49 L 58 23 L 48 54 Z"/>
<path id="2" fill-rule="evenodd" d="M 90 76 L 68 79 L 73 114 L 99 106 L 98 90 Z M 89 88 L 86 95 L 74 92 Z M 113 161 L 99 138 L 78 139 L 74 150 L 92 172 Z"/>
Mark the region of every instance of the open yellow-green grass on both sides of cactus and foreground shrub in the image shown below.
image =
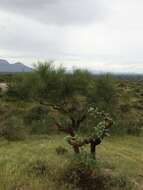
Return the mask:
<path id="1" fill-rule="evenodd" d="M 110 137 L 98 146 L 97 159 L 112 172 L 128 176 L 141 190 L 142 145 L 142 137 Z M 64 155 L 57 155 L 58 146 L 66 147 L 68 152 Z M 0 140 L 0 190 L 70 189 L 66 184 L 59 187 L 58 177 L 72 154 L 71 148 L 62 135 L 33 137 L 22 142 Z M 47 163 L 49 178 L 30 174 L 29 168 L 37 160 Z"/>

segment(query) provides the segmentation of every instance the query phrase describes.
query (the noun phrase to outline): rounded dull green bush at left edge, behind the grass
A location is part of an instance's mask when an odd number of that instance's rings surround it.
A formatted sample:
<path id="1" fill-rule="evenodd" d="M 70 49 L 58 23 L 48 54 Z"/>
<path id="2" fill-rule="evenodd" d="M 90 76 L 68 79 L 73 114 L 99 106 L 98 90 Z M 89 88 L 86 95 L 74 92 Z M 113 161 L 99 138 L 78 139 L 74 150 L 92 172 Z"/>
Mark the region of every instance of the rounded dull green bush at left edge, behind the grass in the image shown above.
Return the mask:
<path id="1" fill-rule="evenodd" d="M 9 141 L 24 140 L 28 135 L 28 130 L 24 127 L 22 119 L 11 117 L 3 123 L 1 135 Z"/>

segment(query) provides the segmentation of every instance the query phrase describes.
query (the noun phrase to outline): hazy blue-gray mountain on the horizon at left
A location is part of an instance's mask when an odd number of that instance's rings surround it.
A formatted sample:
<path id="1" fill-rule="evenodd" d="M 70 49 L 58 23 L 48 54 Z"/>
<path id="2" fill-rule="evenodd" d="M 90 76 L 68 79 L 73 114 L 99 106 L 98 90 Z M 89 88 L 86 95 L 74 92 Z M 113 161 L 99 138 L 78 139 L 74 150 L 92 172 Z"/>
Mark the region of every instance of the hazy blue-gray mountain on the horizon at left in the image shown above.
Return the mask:
<path id="1" fill-rule="evenodd" d="M 21 73 L 21 72 L 31 72 L 32 68 L 22 64 L 14 63 L 10 64 L 4 59 L 0 59 L 0 73 Z"/>

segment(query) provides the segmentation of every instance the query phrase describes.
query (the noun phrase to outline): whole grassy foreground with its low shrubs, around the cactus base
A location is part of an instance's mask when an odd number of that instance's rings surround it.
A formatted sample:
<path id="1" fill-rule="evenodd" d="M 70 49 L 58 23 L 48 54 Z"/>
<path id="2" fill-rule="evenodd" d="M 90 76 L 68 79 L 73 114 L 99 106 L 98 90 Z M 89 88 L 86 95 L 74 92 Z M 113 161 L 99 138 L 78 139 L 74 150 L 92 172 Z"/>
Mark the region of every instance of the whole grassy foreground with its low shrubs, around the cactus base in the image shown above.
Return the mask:
<path id="1" fill-rule="evenodd" d="M 88 147 L 84 148 L 81 156 L 75 157 L 63 137 L 63 134 L 31 136 L 30 139 L 11 143 L 1 140 L 1 189 L 79 189 L 79 181 L 76 181 L 79 178 L 76 178 L 78 174 L 75 172 L 82 170 L 83 175 L 90 172 L 93 178 L 89 179 L 91 176 L 88 175 L 89 180 L 93 180 L 95 175 L 99 176 L 99 180 L 105 180 L 101 181 L 101 184 L 99 181 L 98 185 L 110 186 L 111 183 L 116 182 L 115 186 L 112 185 L 113 190 L 130 190 L 131 187 L 141 190 L 142 137 L 106 138 L 103 144 L 97 147 L 96 163 L 88 156 Z M 57 154 L 59 147 L 64 147 L 68 151 L 62 151 L 61 154 L 60 148 L 60 154 Z M 73 176 L 74 173 L 75 176 Z M 79 177 L 85 180 L 83 176 Z M 82 189 L 84 183 L 81 185 Z M 89 183 L 85 185 L 88 185 L 90 189 Z M 98 189 L 103 189 L 103 186 Z"/>

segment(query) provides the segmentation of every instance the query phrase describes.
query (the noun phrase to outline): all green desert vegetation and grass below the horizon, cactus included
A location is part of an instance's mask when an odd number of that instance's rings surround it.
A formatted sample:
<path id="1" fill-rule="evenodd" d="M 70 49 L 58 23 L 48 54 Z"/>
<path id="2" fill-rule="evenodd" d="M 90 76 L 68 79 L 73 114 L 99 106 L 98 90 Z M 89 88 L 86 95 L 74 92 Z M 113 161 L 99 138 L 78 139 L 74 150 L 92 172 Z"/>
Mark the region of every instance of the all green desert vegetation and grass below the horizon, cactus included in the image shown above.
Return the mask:
<path id="1" fill-rule="evenodd" d="M 143 188 L 140 80 L 53 63 L 0 79 L 0 189 Z"/>

